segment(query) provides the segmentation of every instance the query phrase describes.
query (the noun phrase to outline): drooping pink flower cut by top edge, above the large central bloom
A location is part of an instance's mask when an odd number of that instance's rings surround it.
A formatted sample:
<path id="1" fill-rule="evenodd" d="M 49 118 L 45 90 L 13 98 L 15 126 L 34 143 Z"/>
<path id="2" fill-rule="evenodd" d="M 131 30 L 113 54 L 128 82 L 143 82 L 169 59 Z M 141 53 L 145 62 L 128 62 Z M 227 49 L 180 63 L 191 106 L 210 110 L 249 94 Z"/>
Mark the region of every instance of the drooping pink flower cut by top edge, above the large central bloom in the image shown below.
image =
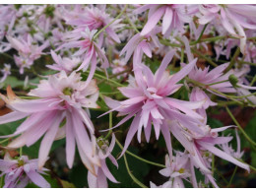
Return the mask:
<path id="1" fill-rule="evenodd" d="M 144 5 L 136 9 L 134 12 L 136 14 L 149 11 L 149 19 L 147 24 L 144 26 L 142 35 L 151 32 L 160 22 L 162 17 L 162 30 L 161 33 L 164 35 L 169 35 L 171 31 L 178 30 L 180 32 L 184 31 L 184 23 L 189 23 L 191 18 L 185 11 L 186 5 Z"/>

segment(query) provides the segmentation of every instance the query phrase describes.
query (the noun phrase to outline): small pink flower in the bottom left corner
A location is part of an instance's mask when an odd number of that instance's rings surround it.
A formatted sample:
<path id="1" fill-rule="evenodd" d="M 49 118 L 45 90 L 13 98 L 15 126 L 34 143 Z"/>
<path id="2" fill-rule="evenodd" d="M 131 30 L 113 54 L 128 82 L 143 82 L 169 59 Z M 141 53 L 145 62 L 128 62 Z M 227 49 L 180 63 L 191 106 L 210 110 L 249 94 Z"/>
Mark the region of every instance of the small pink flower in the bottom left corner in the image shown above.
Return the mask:
<path id="1" fill-rule="evenodd" d="M 0 160 L 0 177 L 5 175 L 4 188 L 24 188 L 30 182 L 42 188 L 49 188 L 50 184 L 40 175 L 45 174 L 43 171 L 48 169 L 42 168 L 38 170 L 38 160 L 29 160 L 27 156 L 22 156 L 17 160 L 5 156 L 4 160 Z"/>

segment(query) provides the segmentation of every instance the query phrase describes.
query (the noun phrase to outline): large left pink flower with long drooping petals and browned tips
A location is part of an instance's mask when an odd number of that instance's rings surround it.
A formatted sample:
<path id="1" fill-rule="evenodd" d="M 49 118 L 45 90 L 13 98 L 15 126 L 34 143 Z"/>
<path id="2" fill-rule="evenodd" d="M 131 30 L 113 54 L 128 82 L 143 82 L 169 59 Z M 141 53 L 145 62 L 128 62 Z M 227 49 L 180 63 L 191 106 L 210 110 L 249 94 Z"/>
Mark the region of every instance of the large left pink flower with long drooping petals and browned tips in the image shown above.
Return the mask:
<path id="1" fill-rule="evenodd" d="M 7 91 L 8 97 L 0 95 L 13 110 L 0 117 L 0 124 L 28 117 L 14 134 L 2 136 L 3 138 L 22 134 L 12 141 L 8 148 L 16 149 L 25 145 L 30 147 L 44 135 L 38 158 L 38 166 L 41 168 L 47 160 L 53 141 L 66 136 L 68 166 L 71 168 L 73 165 L 77 144 L 82 161 L 95 174 L 94 164 L 100 166 L 96 156 L 96 137 L 89 111 L 86 112 L 84 108 L 98 107 L 98 89 L 95 80 L 85 86 L 81 79 L 80 74 L 73 72 L 67 76 L 61 71 L 49 76 L 48 80 L 41 80 L 38 88 L 29 93 L 29 96 L 37 96 L 36 99 L 17 97 L 10 87 Z M 63 125 L 64 122 L 66 123 Z"/>

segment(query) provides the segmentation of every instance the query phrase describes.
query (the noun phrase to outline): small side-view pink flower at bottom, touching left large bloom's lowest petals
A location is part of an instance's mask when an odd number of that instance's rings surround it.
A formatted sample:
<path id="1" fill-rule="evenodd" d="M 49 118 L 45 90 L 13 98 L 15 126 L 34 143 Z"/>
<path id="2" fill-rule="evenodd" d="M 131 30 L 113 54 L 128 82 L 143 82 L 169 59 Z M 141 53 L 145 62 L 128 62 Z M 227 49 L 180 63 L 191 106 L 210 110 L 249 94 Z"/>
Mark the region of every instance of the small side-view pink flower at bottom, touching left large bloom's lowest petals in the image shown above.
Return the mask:
<path id="1" fill-rule="evenodd" d="M 115 145 L 115 136 L 112 134 L 112 141 L 110 145 L 108 146 L 106 141 L 99 138 L 97 141 L 97 150 L 98 150 L 98 158 L 100 160 L 101 166 L 96 166 L 96 175 L 92 174 L 91 172 L 88 172 L 88 184 L 90 188 L 107 188 L 107 180 L 108 178 L 110 181 L 114 183 L 118 183 L 118 181 L 113 177 L 111 172 L 106 166 L 105 160 L 106 158 L 109 158 L 111 162 L 118 167 L 117 161 L 114 159 L 114 157 L 110 154 L 113 150 Z"/>

